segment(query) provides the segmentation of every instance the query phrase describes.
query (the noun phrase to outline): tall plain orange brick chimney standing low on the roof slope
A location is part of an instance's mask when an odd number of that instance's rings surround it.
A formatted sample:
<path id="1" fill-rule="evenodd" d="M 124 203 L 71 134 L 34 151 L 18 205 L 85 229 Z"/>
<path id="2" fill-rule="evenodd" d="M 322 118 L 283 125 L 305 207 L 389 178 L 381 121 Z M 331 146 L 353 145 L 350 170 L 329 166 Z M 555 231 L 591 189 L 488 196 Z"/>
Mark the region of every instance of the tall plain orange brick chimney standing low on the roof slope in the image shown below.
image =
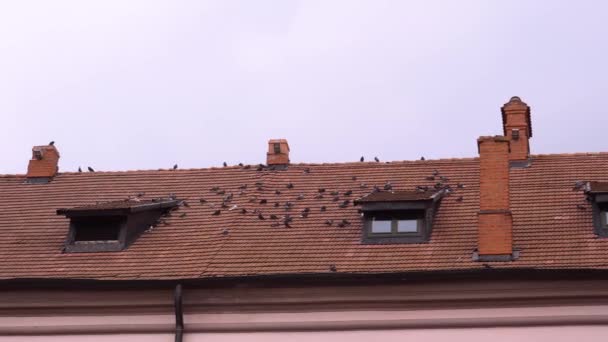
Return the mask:
<path id="1" fill-rule="evenodd" d="M 480 137 L 479 148 L 479 261 L 513 260 L 512 218 L 509 209 L 510 140 Z"/>

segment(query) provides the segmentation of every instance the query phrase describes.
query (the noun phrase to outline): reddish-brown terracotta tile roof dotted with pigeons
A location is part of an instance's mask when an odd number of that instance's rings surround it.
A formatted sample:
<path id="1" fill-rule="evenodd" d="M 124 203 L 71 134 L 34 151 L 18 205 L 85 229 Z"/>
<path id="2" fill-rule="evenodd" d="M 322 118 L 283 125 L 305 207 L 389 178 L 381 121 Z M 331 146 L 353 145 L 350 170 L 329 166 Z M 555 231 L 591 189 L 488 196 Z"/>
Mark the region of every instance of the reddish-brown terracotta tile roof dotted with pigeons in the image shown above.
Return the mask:
<path id="1" fill-rule="evenodd" d="M 394 191 L 433 186 L 433 170 L 461 183 L 442 199 L 429 243 L 361 243 L 358 207 L 374 185 Z M 513 243 L 521 251 L 496 268 L 608 268 L 608 239 L 593 233 L 592 215 L 577 180 L 608 182 L 608 154 L 538 155 L 529 168 L 511 170 Z M 309 172 L 307 172 L 309 171 Z M 293 187 L 288 187 L 293 184 Z M 247 186 L 246 188 L 244 188 Z M 211 191 L 219 187 L 219 190 Z M 326 189 L 323 198 L 319 188 Z M 351 190 L 350 196 L 344 194 Z M 331 192 L 338 191 L 340 201 Z M 69 220 L 58 208 L 142 199 L 169 193 L 189 202 L 121 252 L 62 253 Z M 60 173 L 49 184 L 24 175 L 0 176 L 0 278 L 185 279 L 266 274 L 377 273 L 483 268 L 472 261 L 479 209 L 478 159 L 391 163 L 297 164 L 284 171 L 254 168 Z M 222 199 L 233 194 L 229 206 Z M 462 200 L 459 197 L 462 196 Z M 201 203 L 200 199 L 204 201 Z M 263 199 L 266 203 L 263 203 Z M 274 203 L 279 203 L 275 207 Z M 285 203 L 292 203 L 286 211 Z M 587 210 L 581 210 L 583 205 Z M 326 211 L 320 207 L 326 206 Z M 247 209 L 241 213 L 240 209 Z M 300 217 L 310 208 L 307 218 Z M 220 215 L 212 215 L 221 209 Z M 258 209 L 264 220 L 253 213 Z M 273 226 L 290 213 L 291 228 Z M 327 219 L 347 219 L 346 227 Z M 227 230 L 227 234 L 223 233 Z"/>

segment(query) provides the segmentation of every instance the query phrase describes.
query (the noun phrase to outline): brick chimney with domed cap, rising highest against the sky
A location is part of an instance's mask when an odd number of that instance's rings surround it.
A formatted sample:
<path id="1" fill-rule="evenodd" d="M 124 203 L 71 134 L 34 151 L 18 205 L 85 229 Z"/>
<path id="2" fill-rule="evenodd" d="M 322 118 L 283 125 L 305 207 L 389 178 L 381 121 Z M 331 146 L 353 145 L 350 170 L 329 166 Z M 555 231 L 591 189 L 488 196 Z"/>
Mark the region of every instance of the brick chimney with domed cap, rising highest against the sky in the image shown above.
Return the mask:
<path id="1" fill-rule="evenodd" d="M 511 142 L 509 160 L 513 162 L 512 166 L 527 166 L 532 138 L 530 107 L 519 97 L 513 96 L 502 106 L 502 126 L 505 137 Z"/>

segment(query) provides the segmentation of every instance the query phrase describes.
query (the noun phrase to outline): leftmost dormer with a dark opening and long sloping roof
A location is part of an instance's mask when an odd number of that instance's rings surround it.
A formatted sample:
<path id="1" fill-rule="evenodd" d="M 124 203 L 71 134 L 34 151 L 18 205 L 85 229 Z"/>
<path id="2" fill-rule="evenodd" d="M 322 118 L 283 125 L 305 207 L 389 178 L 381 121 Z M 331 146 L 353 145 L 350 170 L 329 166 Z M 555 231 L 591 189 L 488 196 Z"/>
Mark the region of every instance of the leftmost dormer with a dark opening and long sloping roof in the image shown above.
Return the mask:
<path id="1" fill-rule="evenodd" d="M 178 200 L 127 200 L 57 210 L 70 219 L 65 251 L 111 252 L 129 247 Z"/>

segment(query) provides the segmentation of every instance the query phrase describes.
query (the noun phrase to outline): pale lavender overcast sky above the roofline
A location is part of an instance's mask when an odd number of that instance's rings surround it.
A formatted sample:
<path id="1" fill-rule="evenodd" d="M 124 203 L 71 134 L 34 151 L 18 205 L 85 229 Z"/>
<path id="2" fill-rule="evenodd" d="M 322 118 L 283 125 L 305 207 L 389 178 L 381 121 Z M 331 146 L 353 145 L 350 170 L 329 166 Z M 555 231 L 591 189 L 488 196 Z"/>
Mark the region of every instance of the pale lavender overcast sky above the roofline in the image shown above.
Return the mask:
<path id="1" fill-rule="evenodd" d="M 608 2 L 0 0 L 0 174 L 608 151 Z"/>

